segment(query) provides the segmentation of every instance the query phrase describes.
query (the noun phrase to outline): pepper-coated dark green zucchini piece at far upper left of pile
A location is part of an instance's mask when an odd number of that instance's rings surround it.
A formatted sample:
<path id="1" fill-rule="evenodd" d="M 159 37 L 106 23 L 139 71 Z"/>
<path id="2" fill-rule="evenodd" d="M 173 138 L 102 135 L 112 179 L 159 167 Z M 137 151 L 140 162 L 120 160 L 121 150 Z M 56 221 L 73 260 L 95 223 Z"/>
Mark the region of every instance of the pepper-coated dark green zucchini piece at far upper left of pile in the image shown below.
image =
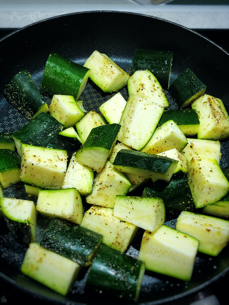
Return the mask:
<path id="1" fill-rule="evenodd" d="M 28 119 L 32 120 L 40 112 L 49 108 L 27 70 L 16 74 L 4 90 L 6 99 Z"/>

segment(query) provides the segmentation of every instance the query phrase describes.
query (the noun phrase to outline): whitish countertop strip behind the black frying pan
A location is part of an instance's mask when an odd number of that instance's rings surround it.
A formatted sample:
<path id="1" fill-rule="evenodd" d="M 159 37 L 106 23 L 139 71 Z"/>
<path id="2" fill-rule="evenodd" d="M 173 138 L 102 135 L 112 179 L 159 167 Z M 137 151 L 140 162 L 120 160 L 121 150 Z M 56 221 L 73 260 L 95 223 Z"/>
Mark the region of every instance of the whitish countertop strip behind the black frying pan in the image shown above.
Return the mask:
<path id="1" fill-rule="evenodd" d="M 137 1 L 137 0 L 136 0 Z M 122 11 L 169 20 L 187 28 L 229 29 L 229 5 L 142 5 L 133 0 L 0 0 L 0 27 L 21 28 L 68 13 Z"/>

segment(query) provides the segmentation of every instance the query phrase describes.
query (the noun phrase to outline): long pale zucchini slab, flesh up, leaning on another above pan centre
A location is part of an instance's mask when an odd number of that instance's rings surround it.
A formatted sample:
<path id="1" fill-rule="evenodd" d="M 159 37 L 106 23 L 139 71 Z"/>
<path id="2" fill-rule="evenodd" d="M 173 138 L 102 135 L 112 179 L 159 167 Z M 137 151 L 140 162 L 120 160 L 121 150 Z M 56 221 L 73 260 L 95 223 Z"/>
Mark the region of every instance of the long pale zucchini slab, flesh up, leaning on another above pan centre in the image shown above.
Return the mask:
<path id="1" fill-rule="evenodd" d="M 130 95 L 120 120 L 118 140 L 134 149 L 142 149 L 150 140 L 162 113 L 163 108 L 151 99 Z"/>

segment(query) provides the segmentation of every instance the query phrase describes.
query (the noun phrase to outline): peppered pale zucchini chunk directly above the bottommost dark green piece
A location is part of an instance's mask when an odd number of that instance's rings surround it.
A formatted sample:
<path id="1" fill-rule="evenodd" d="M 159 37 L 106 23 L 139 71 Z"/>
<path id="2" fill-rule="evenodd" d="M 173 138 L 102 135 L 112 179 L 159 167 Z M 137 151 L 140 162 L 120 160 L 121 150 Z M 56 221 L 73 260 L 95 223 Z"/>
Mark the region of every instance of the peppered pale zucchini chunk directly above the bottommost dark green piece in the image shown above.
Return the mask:
<path id="1" fill-rule="evenodd" d="M 102 244 L 125 252 L 138 227 L 113 216 L 113 209 L 92 206 L 84 214 L 81 226 L 103 235 Z"/>

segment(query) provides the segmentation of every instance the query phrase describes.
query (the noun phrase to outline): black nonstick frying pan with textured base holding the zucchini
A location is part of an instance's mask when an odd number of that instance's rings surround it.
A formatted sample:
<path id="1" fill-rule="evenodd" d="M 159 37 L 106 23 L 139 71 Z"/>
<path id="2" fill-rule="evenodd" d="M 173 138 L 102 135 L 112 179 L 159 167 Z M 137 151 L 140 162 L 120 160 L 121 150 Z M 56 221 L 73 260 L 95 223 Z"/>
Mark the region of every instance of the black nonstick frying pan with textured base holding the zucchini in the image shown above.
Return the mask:
<path id="1" fill-rule="evenodd" d="M 222 99 L 229 110 L 228 70 L 229 54 L 202 35 L 174 23 L 141 14 L 120 12 L 85 12 L 58 16 L 16 30 L 0 40 L 0 131 L 18 130 L 27 120 L 12 105 L 6 102 L 3 90 L 10 79 L 27 69 L 40 87 L 46 60 L 56 52 L 79 64 L 94 50 L 107 54 L 125 71 L 129 71 L 135 49 L 153 49 L 173 52 L 170 83 L 186 68 L 190 68 L 207 85 L 206 93 Z M 126 88 L 122 95 L 127 98 Z M 168 95 L 168 93 L 166 92 Z M 101 103 L 113 94 L 105 94 L 89 81 L 80 99 L 87 110 L 98 111 Z M 168 95 L 169 97 L 169 95 Z M 50 102 L 49 97 L 45 97 Z M 229 165 L 228 142 L 222 145 L 221 167 Z M 28 198 L 23 185 L 13 185 L 4 191 L 4 196 Z M 175 222 L 169 223 L 174 227 Z M 24 292 L 55 303 L 93 304 L 95 297 L 102 302 L 106 296 L 84 292 L 85 270 L 66 297 L 51 291 L 32 279 L 22 276 L 20 264 L 26 251 L 10 239 L 3 219 L 0 219 L 2 237 L 0 276 Z M 5 234 L 5 235 L 4 235 Z M 142 232 L 129 249 L 134 255 L 139 247 Z M 133 253 L 132 253 L 133 252 Z M 218 257 L 198 253 L 190 282 L 146 271 L 138 302 L 134 304 L 159 304 L 179 299 L 196 292 L 217 280 L 229 270 L 229 247 Z M 131 304 L 132 301 L 109 298 L 109 303 Z"/>

